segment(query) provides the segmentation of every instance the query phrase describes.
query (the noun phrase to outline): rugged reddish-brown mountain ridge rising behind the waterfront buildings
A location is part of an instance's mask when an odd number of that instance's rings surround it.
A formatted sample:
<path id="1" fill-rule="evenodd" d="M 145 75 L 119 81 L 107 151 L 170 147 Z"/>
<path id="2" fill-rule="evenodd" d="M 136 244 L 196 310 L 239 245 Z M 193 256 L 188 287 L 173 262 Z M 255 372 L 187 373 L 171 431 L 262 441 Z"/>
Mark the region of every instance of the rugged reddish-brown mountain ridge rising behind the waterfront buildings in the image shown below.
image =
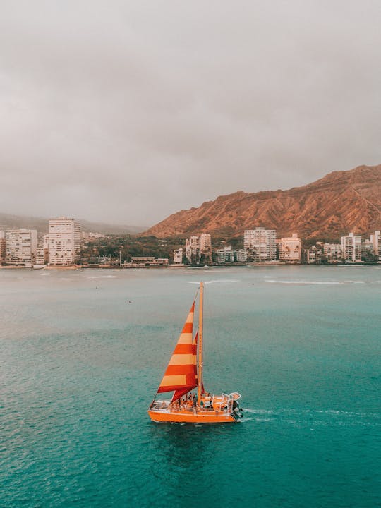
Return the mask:
<path id="1" fill-rule="evenodd" d="M 302 238 L 322 239 L 381 229 L 381 164 L 334 171 L 288 191 L 222 195 L 171 215 L 145 234 L 241 236 L 244 229 L 256 226 L 276 229 L 278 237 L 295 232 Z"/>

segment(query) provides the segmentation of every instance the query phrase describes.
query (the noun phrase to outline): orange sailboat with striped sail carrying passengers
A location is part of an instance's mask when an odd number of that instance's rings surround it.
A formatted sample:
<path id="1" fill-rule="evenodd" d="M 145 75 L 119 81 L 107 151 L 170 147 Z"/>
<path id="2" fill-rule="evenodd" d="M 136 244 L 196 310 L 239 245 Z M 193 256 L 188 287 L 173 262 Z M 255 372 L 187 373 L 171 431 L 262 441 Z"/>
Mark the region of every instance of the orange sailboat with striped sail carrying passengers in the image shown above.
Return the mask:
<path id="1" fill-rule="evenodd" d="M 193 336 L 195 301 L 199 294 L 198 331 Z M 229 423 L 238 422 L 242 409 L 237 392 L 212 395 L 202 382 L 202 320 L 204 284 L 188 313 L 183 330 L 164 373 L 162 382 L 148 409 L 155 422 Z M 193 392 L 193 390 L 195 390 Z M 158 394 L 173 392 L 171 399 L 157 398 Z"/>

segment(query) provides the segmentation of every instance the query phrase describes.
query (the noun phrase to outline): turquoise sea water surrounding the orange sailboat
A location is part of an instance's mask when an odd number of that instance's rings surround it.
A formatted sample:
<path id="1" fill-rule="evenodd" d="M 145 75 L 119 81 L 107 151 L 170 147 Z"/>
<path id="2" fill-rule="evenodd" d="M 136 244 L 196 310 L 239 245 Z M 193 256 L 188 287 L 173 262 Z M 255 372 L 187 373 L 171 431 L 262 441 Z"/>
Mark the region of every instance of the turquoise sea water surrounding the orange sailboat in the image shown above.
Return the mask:
<path id="1" fill-rule="evenodd" d="M 243 422 L 155 424 L 200 279 Z M 0 270 L 0 506 L 380 506 L 380 303 L 380 266 Z"/>

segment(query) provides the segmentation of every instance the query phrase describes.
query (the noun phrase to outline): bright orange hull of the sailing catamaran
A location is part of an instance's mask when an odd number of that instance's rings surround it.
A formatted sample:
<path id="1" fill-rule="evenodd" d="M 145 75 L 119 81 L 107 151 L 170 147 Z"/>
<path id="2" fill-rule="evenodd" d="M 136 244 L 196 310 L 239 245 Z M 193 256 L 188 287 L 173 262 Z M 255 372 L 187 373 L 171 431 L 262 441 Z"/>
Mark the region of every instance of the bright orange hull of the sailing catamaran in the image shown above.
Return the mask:
<path id="1" fill-rule="evenodd" d="M 149 409 L 151 420 L 168 423 L 233 423 L 236 418 L 224 411 L 160 411 Z"/>

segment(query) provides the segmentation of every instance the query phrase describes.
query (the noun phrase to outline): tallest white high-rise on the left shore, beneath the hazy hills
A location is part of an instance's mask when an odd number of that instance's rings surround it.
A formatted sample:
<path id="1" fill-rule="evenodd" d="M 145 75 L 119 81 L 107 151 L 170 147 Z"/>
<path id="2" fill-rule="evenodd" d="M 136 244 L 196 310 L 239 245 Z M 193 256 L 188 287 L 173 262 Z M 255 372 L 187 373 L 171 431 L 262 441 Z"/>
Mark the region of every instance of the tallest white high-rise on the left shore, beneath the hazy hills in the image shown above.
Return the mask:
<path id="1" fill-rule="evenodd" d="M 68 217 L 49 220 L 49 265 L 75 265 L 80 260 L 80 223 Z"/>

